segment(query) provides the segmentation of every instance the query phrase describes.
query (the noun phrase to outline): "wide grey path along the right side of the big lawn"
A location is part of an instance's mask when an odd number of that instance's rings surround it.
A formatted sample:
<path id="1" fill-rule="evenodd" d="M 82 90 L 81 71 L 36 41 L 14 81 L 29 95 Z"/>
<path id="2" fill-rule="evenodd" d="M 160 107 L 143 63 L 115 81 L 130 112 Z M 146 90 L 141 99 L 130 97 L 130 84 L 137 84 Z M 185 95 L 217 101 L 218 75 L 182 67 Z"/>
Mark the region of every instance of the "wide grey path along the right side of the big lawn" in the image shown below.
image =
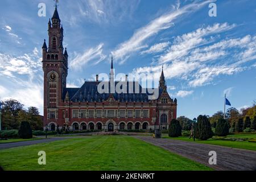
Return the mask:
<path id="1" fill-rule="evenodd" d="M 138 135 L 134 137 L 217 170 L 256 170 L 256 151 L 168 138 L 152 138 Z M 210 158 L 209 151 L 216 151 L 216 165 L 208 163 Z"/>

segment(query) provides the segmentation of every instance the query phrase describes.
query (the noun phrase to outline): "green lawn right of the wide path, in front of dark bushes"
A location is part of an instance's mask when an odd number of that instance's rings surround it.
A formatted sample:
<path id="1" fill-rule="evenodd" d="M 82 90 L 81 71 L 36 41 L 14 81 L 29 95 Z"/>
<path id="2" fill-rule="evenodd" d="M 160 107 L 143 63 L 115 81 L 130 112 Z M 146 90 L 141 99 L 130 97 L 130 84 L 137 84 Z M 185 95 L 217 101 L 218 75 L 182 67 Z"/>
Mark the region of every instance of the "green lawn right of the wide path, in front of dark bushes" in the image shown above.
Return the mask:
<path id="1" fill-rule="evenodd" d="M 228 137 L 237 137 L 237 138 L 256 138 L 255 135 L 228 135 Z M 171 138 L 171 137 L 164 137 L 164 138 Z M 193 139 L 189 139 L 188 137 L 178 137 L 178 138 L 171 138 L 171 139 L 179 139 L 188 142 L 194 142 Z M 256 143 L 248 142 L 248 141 L 230 141 L 230 140 L 216 140 L 216 139 L 208 139 L 208 140 L 199 140 L 196 139 L 197 143 L 206 143 L 206 144 L 215 144 L 218 146 L 225 146 L 225 147 L 233 147 L 233 148 L 243 148 L 247 150 L 254 150 L 256 151 Z"/>

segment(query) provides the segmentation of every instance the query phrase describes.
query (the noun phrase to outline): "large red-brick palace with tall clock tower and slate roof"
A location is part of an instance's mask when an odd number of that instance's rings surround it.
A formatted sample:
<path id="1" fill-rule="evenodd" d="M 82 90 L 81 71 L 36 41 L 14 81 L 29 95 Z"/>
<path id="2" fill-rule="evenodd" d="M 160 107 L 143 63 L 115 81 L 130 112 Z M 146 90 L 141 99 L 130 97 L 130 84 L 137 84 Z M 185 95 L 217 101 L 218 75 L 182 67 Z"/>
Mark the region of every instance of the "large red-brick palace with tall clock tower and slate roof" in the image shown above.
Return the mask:
<path id="1" fill-rule="evenodd" d="M 67 88 L 68 53 L 63 48 L 63 27 L 57 8 L 48 23 L 48 36 L 48 47 L 46 40 L 42 47 L 42 63 L 44 126 L 49 130 L 56 130 L 57 126 L 60 129 L 69 127 L 69 130 L 104 131 L 168 129 L 171 120 L 176 118 L 177 100 L 167 93 L 163 69 L 155 100 L 148 99 L 149 94 L 142 92 L 141 85 L 139 92 L 131 89 L 129 93 L 99 93 L 98 75 L 95 81 L 85 81 L 81 88 Z M 112 59 L 108 82 L 113 77 Z M 135 85 L 134 81 L 127 81 L 127 76 L 124 83 L 127 88 Z"/>

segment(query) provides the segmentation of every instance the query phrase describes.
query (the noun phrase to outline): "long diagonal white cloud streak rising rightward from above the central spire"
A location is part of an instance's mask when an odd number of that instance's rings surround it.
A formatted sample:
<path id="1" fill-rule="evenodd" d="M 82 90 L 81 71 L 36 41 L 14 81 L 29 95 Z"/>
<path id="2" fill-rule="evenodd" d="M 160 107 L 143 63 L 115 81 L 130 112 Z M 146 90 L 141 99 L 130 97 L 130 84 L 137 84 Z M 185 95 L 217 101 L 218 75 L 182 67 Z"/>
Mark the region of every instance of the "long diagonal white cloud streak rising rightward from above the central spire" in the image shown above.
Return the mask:
<path id="1" fill-rule="evenodd" d="M 133 36 L 126 42 L 119 44 L 119 46 L 112 51 L 115 59 L 121 60 L 120 64 L 124 63 L 131 53 L 134 53 L 141 49 L 144 41 L 153 35 L 158 34 L 159 31 L 166 30 L 173 26 L 173 21 L 183 14 L 192 13 L 209 3 L 210 1 L 204 1 L 201 3 L 191 3 L 176 9 L 170 13 L 164 14 L 159 18 L 152 20 L 146 26 L 139 28 L 134 32 Z"/>

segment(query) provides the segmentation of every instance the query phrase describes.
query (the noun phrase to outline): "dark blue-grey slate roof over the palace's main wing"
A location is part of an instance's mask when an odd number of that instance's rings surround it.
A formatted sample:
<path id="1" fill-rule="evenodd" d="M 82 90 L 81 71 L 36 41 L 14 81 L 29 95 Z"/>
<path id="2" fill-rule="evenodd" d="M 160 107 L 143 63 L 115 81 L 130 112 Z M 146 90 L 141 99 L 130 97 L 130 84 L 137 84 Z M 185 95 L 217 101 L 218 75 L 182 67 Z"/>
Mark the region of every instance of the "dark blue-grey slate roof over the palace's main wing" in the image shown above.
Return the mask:
<path id="1" fill-rule="evenodd" d="M 98 93 L 97 86 L 99 82 L 96 81 L 85 81 L 84 85 L 81 88 L 66 88 L 63 93 L 63 100 L 68 92 L 69 99 L 72 102 L 102 102 L 108 100 L 110 93 Z M 115 82 L 115 85 L 118 82 Z M 109 82 L 108 82 L 109 84 Z M 131 84 L 131 82 L 130 82 Z M 110 85 L 110 84 L 109 84 Z M 118 94 L 117 92 L 113 93 L 113 97 L 115 100 L 119 100 L 120 102 L 149 102 L 148 96 L 150 93 L 142 93 L 141 85 L 139 85 L 139 93 L 135 93 L 135 82 L 133 82 L 133 93 L 121 93 Z M 129 91 L 129 84 L 127 84 L 127 92 Z M 110 86 L 109 86 L 110 92 Z M 159 89 L 159 96 L 162 94 L 163 89 Z"/>

